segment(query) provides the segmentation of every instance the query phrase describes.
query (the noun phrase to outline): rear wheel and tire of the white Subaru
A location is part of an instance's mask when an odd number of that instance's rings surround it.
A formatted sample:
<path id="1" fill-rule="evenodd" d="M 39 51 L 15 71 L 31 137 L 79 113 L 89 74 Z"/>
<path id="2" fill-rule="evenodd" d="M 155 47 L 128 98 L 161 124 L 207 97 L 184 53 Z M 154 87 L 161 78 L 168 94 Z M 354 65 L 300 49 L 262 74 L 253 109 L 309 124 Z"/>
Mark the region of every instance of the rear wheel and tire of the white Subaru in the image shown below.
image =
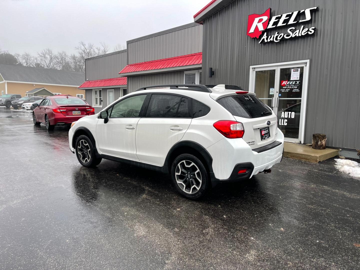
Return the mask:
<path id="1" fill-rule="evenodd" d="M 211 188 L 208 171 L 201 160 L 191 154 L 175 158 L 171 178 L 176 191 L 188 199 L 199 199 Z"/>

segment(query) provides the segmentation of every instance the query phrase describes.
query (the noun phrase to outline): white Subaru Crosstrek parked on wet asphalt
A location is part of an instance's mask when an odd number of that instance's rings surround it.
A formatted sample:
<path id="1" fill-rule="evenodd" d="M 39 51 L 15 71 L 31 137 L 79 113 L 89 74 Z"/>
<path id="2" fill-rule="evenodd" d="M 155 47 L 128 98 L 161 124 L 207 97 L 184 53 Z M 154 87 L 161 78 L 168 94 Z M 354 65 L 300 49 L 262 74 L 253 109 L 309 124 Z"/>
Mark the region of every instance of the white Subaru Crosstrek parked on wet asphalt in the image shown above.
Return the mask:
<path id="1" fill-rule="evenodd" d="M 82 166 L 102 159 L 170 173 L 190 199 L 217 183 L 270 172 L 283 156 L 274 112 L 234 85 L 152 85 L 73 122 L 70 150 Z"/>

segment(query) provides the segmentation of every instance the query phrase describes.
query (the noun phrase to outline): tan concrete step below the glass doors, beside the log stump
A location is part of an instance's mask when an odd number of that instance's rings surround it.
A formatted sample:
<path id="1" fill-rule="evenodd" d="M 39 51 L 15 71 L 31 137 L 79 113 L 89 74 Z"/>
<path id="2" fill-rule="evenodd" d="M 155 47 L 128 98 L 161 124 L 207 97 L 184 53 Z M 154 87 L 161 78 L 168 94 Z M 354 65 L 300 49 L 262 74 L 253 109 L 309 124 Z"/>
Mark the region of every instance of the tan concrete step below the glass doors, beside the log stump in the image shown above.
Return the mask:
<path id="1" fill-rule="evenodd" d="M 284 143 L 284 157 L 318 163 L 328 158 L 339 155 L 339 149 L 326 148 L 323 150 L 312 149 L 309 145 L 298 143 Z"/>

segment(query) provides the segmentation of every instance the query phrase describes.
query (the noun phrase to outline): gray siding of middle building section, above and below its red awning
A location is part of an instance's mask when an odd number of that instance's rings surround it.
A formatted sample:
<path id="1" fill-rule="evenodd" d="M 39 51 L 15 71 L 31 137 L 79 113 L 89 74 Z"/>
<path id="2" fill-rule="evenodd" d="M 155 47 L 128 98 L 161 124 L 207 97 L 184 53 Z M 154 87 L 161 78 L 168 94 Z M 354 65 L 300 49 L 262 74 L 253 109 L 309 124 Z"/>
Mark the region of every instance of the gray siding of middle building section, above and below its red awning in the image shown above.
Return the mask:
<path id="1" fill-rule="evenodd" d="M 201 51 L 202 25 L 198 23 L 185 24 L 127 41 L 128 65 L 201 53 Z M 195 82 L 198 83 L 198 71 L 201 71 L 201 64 L 171 69 L 144 70 L 136 73 L 126 72 L 120 73 L 120 75 L 127 77 L 127 87 L 129 93 L 131 93 L 139 87 L 146 85 L 183 84 L 184 71 L 191 70 L 195 70 L 191 74 L 193 78 L 196 78 Z"/>

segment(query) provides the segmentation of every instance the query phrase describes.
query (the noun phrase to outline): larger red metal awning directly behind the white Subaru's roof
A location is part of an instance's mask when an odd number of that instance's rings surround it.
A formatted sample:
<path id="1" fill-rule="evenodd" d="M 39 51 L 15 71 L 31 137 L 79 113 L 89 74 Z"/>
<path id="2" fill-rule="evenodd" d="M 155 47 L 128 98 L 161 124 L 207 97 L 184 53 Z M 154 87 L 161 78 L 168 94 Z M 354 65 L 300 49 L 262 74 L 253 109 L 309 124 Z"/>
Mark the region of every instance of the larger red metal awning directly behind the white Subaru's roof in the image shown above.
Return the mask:
<path id="1" fill-rule="evenodd" d="M 164 58 L 159 60 L 141 62 L 127 65 L 119 72 L 119 74 L 130 73 L 130 72 L 139 72 L 139 71 L 149 71 L 154 69 L 163 69 L 163 68 L 174 68 L 174 67 L 184 67 L 202 64 L 202 53 L 193 53 L 187 55 L 181 55 L 171 58 Z"/>

